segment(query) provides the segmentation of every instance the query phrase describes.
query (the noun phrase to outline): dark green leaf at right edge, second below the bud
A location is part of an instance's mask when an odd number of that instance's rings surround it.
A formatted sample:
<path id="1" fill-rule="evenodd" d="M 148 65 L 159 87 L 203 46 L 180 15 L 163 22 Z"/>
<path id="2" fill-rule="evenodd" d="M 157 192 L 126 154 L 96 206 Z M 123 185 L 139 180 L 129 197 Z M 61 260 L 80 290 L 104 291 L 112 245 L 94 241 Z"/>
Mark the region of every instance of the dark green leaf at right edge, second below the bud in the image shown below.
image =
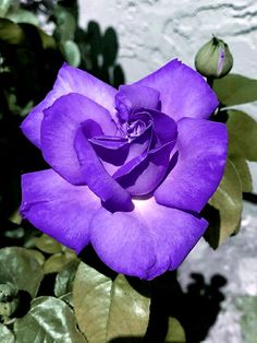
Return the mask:
<path id="1" fill-rule="evenodd" d="M 229 110 L 227 127 L 248 161 L 257 162 L 257 122 L 240 110 Z"/>

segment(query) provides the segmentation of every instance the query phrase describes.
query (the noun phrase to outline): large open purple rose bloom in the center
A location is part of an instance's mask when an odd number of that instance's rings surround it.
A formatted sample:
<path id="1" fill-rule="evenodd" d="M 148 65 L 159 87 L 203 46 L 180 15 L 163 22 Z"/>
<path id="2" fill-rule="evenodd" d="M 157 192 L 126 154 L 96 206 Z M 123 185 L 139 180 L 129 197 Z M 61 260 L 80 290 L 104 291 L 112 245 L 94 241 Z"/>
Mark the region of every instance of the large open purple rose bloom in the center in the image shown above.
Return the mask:
<path id="1" fill-rule="evenodd" d="M 176 269 L 224 172 L 225 126 L 207 120 L 217 106 L 178 60 L 118 91 L 64 64 L 22 125 L 51 168 L 23 175 L 21 213 L 77 253 L 90 243 L 117 272 Z"/>

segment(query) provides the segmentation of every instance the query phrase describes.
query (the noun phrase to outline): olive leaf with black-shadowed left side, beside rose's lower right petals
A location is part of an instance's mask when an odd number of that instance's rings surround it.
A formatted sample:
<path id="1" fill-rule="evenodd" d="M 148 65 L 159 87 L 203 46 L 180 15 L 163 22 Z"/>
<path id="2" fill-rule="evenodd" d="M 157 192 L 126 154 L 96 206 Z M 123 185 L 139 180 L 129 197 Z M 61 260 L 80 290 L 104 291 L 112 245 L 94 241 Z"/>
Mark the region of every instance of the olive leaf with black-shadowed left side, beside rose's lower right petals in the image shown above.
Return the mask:
<path id="1" fill-rule="evenodd" d="M 230 159 L 227 162 L 225 173 L 220 186 L 210 199 L 209 204 L 213 209 L 207 215 L 209 227 L 205 238 L 216 249 L 238 229 L 243 209 L 240 175 Z M 219 213 L 217 213 L 217 210 Z"/>

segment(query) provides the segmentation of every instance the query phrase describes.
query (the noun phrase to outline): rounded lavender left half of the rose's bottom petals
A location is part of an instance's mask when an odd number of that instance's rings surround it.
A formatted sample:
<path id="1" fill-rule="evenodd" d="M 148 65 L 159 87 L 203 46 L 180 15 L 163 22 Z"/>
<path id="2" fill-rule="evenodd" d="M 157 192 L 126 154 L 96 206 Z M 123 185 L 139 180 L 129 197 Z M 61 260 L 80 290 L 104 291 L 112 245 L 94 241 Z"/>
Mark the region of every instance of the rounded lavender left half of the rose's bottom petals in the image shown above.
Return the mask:
<path id="1" fill-rule="evenodd" d="M 101 209 L 90 223 L 90 241 L 100 259 L 118 273 L 147 279 L 155 264 L 148 227 L 134 212 Z"/>

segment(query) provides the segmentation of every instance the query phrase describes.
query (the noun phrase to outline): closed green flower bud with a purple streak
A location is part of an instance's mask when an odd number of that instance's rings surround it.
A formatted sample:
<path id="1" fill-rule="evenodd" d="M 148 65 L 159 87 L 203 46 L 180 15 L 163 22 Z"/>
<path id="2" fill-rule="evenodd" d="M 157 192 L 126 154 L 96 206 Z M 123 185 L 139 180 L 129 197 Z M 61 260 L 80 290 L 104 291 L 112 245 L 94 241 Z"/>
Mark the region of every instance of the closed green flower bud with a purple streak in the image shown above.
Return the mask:
<path id="1" fill-rule="evenodd" d="M 219 79 L 227 75 L 233 66 L 233 57 L 228 45 L 212 37 L 195 57 L 196 70 L 206 78 Z"/>

